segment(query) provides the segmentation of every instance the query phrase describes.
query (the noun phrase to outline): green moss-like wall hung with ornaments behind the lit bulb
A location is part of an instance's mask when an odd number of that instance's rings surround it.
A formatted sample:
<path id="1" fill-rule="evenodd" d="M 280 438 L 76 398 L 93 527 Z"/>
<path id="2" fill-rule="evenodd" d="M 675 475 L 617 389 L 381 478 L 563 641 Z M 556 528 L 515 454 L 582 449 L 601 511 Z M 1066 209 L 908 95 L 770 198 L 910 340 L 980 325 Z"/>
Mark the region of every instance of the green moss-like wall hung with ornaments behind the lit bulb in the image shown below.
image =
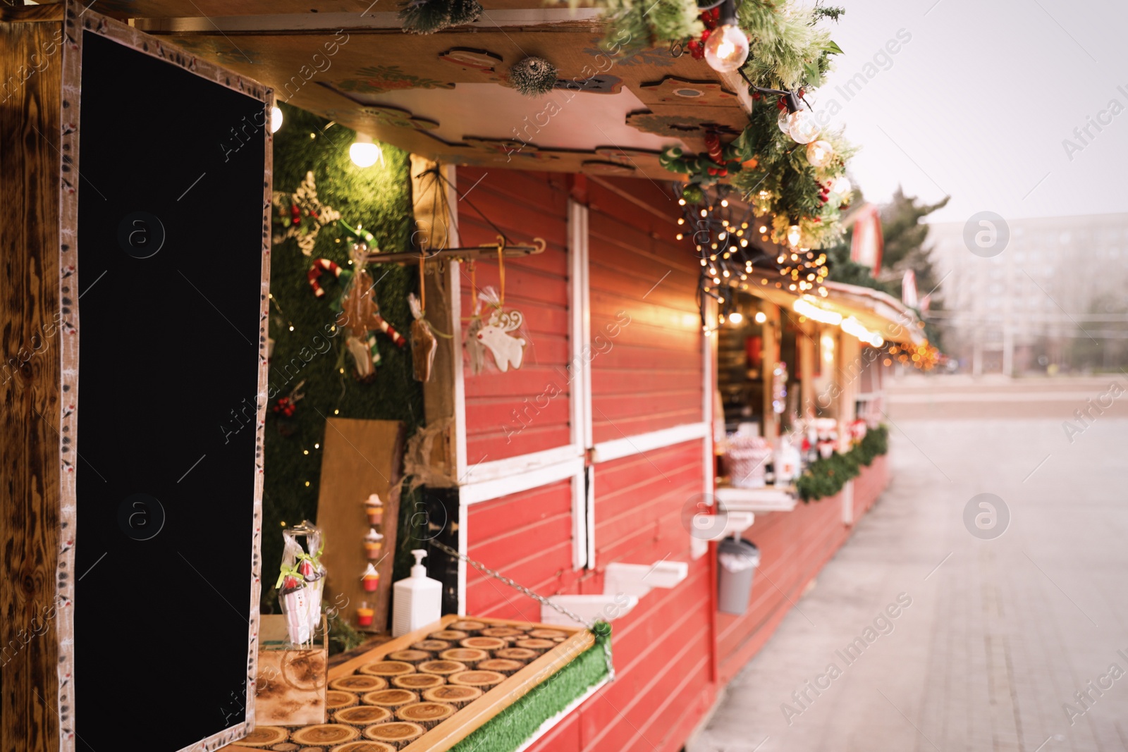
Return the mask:
<path id="1" fill-rule="evenodd" d="M 318 198 L 324 204 L 340 211 L 353 227 L 362 223 L 376 236 L 380 249 L 407 250 L 413 222 L 408 154 L 384 144 L 382 166 L 358 168 L 349 159 L 349 147 L 355 140 L 352 131 L 329 126 L 327 121 L 287 105 L 282 109 L 284 122 L 274 134 L 274 191 L 293 193 L 306 172 L 312 170 Z M 347 266 L 347 231 L 337 224 L 326 225 L 311 256 L 305 256 L 291 239 L 275 244 L 271 258 L 271 293 L 276 307 L 271 307 L 270 320 L 274 352 L 263 493 L 264 611 L 277 610 L 273 585 L 282 556 L 283 523 L 316 519 L 321 454 L 315 445 L 325 445 L 323 416 L 403 421 L 408 436 L 423 421 L 423 390 L 412 378 L 409 346 L 396 347 L 378 335 L 382 362 L 377 366 L 376 380 L 368 384 L 353 377 L 352 363 L 343 353 L 344 337 L 329 339 L 332 348 L 316 354 L 308 363 L 298 357 L 303 347 L 315 348 L 314 337 L 324 334 L 336 316 L 329 308 L 340 290 L 336 281 L 332 275 L 323 275 L 326 294 L 318 299 L 306 276 L 312 260 L 323 257 Z M 406 335 L 411 322 L 406 298 L 417 289 L 415 269 L 386 265 L 372 271 L 372 278 L 378 280 L 374 293 L 381 315 Z M 319 339 L 316 346 L 325 350 L 324 342 Z M 302 364 L 297 373 L 292 368 L 283 369 L 293 359 Z M 342 368 L 344 373 L 340 372 Z M 305 399 L 298 402 L 293 417 L 280 419 L 272 410 L 275 401 L 301 380 L 305 380 L 301 389 Z M 280 428 L 289 435 L 283 435 Z M 403 534 L 400 539 L 408 541 Z"/>

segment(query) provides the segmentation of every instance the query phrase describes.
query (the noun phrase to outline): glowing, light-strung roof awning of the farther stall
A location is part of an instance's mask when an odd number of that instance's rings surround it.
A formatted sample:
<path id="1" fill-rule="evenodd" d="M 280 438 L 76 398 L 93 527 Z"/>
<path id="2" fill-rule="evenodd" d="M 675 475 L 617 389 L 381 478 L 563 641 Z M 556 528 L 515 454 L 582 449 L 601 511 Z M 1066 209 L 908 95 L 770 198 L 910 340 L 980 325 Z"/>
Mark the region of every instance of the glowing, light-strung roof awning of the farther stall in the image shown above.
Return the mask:
<path id="1" fill-rule="evenodd" d="M 885 342 L 910 345 L 924 343 L 924 328 L 920 326 L 920 320 L 910 308 L 896 298 L 879 290 L 843 282 L 823 282 L 822 284 L 827 289 L 825 298 L 791 292 L 773 284 L 763 286 L 749 284 L 747 292 L 788 311 L 795 310 L 796 300 L 803 300 L 816 308 L 837 313 L 843 319 L 853 317 L 870 331 L 879 334 Z"/>

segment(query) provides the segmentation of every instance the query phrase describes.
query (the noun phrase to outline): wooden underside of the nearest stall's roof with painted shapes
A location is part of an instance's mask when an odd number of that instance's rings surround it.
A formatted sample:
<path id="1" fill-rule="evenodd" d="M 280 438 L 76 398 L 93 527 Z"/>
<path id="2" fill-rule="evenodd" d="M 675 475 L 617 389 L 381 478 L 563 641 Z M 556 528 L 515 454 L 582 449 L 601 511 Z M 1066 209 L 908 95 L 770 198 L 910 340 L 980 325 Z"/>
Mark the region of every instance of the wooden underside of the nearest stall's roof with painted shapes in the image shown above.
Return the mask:
<path id="1" fill-rule="evenodd" d="M 735 74 L 669 45 L 608 55 L 601 11 L 584 2 L 482 5 L 474 24 L 429 35 L 404 33 L 398 6 L 372 0 L 103 0 L 99 9 L 273 87 L 280 101 L 450 163 L 676 179 L 658 162 L 663 147 L 702 152 L 707 130 L 737 135 L 748 122 L 751 99 Z M 510 68 L 527 56 L 558 69 L 553 91 L 511 88 Z"/>

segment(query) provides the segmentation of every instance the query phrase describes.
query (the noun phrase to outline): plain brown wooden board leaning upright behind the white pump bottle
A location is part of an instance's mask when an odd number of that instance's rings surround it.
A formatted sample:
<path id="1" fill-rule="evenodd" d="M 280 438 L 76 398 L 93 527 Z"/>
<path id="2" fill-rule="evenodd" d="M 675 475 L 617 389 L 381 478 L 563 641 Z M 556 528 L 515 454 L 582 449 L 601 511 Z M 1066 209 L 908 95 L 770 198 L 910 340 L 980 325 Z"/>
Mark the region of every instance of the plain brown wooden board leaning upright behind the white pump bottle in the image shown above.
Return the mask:
<path id="1" fill-rule="evenodd" d="M 329 418 L 325 428 L 317 499 L 317 524 L 325 543 L 321 561 L 328 569 L 323 596 L 364 631 L 384 631 L 388 623 L 403 451 L 404 424 L 398 421 Z M 360 581 L 369 564 L 362 541 L 370 528 L 364 499 L 371 494 L 384 501 L 384 523 L 378 530 L 384 533 L 384 558 L 376 567 L 380 587 L 374 593 L 365 592 Z M 361 601 L 376 610 L 371 627 L 356 625 Z"/>

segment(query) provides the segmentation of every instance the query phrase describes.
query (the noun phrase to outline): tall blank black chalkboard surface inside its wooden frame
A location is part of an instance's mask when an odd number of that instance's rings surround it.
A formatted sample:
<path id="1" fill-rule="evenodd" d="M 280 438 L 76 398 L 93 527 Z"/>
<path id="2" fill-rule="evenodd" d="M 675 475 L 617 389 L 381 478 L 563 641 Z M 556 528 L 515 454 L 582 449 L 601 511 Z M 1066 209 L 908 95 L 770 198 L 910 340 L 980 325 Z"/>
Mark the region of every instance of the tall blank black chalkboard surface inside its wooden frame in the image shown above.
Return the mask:
<path id="1" fill-rule="evenodd" d="M 247 715 L 264 103 L 91 30 L 81 65 L 76 743 L 174 751 Z"/>

